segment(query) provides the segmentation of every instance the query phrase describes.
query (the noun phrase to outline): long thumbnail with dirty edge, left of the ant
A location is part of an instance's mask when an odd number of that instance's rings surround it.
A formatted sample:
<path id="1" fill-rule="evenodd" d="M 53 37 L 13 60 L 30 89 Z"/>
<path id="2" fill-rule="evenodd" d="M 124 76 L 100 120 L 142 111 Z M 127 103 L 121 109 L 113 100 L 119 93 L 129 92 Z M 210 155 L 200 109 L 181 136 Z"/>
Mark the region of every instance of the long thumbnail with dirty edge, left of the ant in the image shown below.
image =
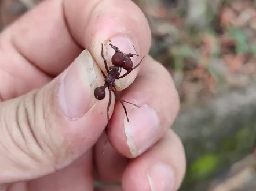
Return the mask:
<path id="1" fill-rule="evenodd" d="M 94 60 L 89 51 L 83 51 L 71 64 L 60 84 L 60 106 L 70 119 L 82 117 L 94 103 L 93 91 L 97 87 Z"/>

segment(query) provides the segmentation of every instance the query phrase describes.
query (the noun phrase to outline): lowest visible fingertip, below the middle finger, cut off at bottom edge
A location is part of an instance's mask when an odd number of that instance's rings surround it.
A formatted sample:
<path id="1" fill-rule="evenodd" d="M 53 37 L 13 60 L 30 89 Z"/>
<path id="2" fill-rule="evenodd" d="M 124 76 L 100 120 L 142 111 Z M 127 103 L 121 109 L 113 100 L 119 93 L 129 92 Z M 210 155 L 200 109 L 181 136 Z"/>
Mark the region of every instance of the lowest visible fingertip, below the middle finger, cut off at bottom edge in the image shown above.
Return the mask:
<path id="1" fill-rule="evenodd" d="M 131 160 L 123 174 L 123 189 L 174 191 L 180 188 L 185 170 L 184 148 L 169 130 L 156 145 Z"/>

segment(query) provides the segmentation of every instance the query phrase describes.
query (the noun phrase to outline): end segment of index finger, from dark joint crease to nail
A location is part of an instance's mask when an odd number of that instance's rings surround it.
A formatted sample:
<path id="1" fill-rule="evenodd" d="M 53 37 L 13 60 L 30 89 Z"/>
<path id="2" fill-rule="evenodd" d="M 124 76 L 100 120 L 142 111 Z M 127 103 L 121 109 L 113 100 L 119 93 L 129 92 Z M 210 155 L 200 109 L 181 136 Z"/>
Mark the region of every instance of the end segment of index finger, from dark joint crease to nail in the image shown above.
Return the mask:
<path id="1" fill-rule="evenodd" d="M 151 31 L 147 18 L 134 2 L 130 0 L 87 1 L 86 5 L 81 0 L 76 4 L 71 2 L 67 0 L 64 3 L 71 34 L 78 44 L 86 47 L 93 54 L 105 74 L 107 72 L 101 57 L 101 44 L 105 44 L 104 57 L 107 65 L 111 66 L 114 51 L 108 45 L 109 40 L 123 53 L 137 52 L 140 55 L 138 58 L 131 58 L 133 66 L 148 54 L 151 46 Z M 78 27 L 77 23 L 81 25 Z M 126 77 L 116 80 L 116 88 L 125 89 L 133 83 L 138 70 L 139 67 Z M 124 72 L 125 70 L 122 70 L 122 73 Z"/>

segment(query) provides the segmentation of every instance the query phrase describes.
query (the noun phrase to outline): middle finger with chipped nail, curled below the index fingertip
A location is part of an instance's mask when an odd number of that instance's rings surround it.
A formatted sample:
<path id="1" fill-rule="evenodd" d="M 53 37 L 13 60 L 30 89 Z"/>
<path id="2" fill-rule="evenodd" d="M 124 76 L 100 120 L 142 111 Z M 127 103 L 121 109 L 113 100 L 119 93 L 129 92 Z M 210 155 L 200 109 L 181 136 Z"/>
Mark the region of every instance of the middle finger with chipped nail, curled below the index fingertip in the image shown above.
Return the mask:
<path id="1" fill-rule="evenodd" d="M 111 118 L 109 141 L 127 158 L 134 158 L 155 144 L 170 128 L 179 108 L 169 72 L 151 57 L 145 62 L 134 83 L 122 94 L 123 100 L 141 107 L 125 103 L 127 122 L 122 104 L 117 102 Z"/>

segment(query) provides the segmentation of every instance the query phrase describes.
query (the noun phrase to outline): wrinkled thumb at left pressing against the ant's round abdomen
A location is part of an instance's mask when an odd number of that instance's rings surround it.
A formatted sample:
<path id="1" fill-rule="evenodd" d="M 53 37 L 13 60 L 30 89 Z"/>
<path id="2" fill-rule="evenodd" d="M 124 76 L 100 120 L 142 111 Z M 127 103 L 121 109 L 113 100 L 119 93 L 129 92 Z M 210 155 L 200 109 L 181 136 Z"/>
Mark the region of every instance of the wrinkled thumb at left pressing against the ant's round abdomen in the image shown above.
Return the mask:
<path id="1" fill-rule="evenodd" d="M 93 94 L 102 80 L 85 50 L 42 89 L 0 104 L 0 184 L 53 173 L 96 143 L 107 124 L 109 94 Z"/>

